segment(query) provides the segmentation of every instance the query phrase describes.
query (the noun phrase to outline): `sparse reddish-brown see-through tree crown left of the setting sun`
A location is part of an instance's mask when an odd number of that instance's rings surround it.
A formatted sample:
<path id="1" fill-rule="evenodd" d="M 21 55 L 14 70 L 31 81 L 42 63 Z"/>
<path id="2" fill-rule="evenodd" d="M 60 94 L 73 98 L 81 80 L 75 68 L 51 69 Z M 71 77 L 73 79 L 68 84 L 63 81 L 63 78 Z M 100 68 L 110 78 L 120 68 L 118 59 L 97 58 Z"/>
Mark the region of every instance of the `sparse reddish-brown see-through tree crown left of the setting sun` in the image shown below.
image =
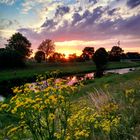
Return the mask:
<path id="1" fill-rule="evenodd" d="M 51 56 L 54 53 L 54 42 L 50 39 L 46 39 L 42 41 L 42 43 L 39 45 L 38 50 L 43 51 L 46 55 L 46 59 L 48 59 L 49 56 Z"/>

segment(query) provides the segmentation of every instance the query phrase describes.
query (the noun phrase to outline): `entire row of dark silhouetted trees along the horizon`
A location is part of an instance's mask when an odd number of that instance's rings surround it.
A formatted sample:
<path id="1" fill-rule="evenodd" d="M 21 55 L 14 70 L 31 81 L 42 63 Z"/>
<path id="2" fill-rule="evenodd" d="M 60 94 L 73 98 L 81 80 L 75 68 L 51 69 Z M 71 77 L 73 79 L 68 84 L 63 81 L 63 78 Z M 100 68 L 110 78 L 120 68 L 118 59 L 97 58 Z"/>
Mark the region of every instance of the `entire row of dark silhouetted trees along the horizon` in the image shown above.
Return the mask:
<path id="1" fill-rule="evenodd" d="M 99 51 L 100 50 L 100 51 Z M 98 53 L 97 53 L 98 52 Z M 15 33 L 7 40 L 5 48 L 0 49 L 0 68 L 13 68 L 25 66 L 26 60 L 31 56 L 32 49 L 30 41 L 21 33 Z M 65 58 L 65 54 L 55 51 L 55 44 L 52 40 L 46 39 L 41 42 L 38 50 L 35 53 L 34 59 L 41 63 L 47 62 L 84 62 L 93 60 L 96 61 L 95 56 L 99 55 L 99 61 L 101 56 L 107 54 L 108 61 L 120 61 L 121 59 L 140 59 L 139 53 L 124 53 L 120 46 L 113 46 L 109 52 L 106 52 L 104 48 L 99 48 L 94 51 L 94 47 L 85 47 L 80 56 L 76 54 L 70 54 L 69 58 Z M 106 58 L 104 58 L 105 60 Z M 106 61 L 106 60 L 105 60 Z M 97 63 L 97 62 L 95 62 Z"/>

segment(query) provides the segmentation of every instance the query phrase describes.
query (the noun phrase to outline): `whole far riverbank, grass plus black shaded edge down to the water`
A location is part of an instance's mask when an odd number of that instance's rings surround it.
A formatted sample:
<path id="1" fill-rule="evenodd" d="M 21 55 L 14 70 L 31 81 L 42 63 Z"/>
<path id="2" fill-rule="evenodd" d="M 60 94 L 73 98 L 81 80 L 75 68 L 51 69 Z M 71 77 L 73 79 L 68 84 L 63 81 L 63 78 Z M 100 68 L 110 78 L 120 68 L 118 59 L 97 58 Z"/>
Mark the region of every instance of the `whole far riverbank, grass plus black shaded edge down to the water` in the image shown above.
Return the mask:
<path id="1" fill-rule="evenodd" d="M 107 69 L 139 67 L 140 62 L 110 62 Z M 28 63 L 24 69 L 9 69 L 0 71 L 0 94 L 7 97 L 12 94 L 15 86 L 35 82 L 37 75 L 54 70 L 60 71 L 58 77 L 94 72 L 96 67 L 93 62 L 75 62 L 64 64 Z"/>

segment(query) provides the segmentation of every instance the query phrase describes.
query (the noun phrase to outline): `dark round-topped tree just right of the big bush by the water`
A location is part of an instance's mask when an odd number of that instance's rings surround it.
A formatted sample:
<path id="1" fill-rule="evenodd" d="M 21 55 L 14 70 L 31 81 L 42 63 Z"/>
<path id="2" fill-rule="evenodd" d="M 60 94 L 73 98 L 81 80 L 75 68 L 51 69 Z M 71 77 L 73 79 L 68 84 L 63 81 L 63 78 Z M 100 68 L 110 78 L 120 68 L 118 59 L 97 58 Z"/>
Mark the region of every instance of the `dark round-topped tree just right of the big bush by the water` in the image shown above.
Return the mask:
<path id="1" fill-rule="evenodd" d="M 121 55 L 123 54 L 122 48 L 119 46 L 113 46 L 109 53 L 109 60 L 111 61 L 120 61 Z"/>

